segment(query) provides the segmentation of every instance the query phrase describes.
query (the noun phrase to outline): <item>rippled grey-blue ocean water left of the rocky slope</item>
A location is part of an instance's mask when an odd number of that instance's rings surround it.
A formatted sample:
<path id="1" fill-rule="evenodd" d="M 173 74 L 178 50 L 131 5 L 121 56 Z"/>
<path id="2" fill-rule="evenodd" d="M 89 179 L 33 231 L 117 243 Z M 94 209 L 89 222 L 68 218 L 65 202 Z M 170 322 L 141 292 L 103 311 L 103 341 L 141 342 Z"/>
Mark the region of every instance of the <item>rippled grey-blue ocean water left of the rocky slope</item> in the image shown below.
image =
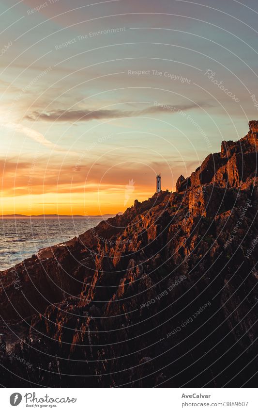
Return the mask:
<path id="1" fill-rule="evenodd" d="M 0 220 L 0 271 L 29 258 L 42 247 L 65 242 L 97 226 L 103 218 Z"/>

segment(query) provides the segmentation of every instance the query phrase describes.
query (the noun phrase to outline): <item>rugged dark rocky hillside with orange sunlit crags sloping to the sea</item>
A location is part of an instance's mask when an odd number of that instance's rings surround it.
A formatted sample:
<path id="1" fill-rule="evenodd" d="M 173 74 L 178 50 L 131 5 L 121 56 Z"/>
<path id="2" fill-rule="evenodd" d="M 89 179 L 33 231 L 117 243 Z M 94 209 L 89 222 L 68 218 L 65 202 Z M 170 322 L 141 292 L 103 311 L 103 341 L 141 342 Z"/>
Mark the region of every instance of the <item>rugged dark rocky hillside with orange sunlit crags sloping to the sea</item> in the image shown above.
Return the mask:
<path id="1" fill-rule="evenodd" d="M 32 365 L 10 360 L 3 329 L 4 386 L 256 384 L 257 126 L 177 192 L 0 274 L 3 322 L 27 326 L 14 351 Z"/>

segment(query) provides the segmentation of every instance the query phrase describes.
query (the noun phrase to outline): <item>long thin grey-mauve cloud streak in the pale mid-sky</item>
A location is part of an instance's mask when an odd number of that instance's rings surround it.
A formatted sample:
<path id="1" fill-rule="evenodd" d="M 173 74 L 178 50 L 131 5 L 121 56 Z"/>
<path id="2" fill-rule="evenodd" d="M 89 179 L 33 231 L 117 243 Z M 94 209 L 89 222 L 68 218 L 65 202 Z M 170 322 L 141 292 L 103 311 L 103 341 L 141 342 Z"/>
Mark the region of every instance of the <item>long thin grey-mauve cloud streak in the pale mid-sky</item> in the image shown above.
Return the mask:
<path id="1" fill-rule="evenodd" d="M 27 120 L 43 120 L 43 121 L 90 121 L 101 119 L 114 119 L 121 117 L 134 117 L 142 115 L 151 115 L 156 113 L 170 113 L 175 114 L 180 110 L 186 111 L 197 108 L 198 106 L 207 106 L 207 103 L 190 103 L 187 105 L 172 105 L 166 104 L 163 106 L 150 106 L 143 110 L 55 110 L 49 113 L 33 112 L 27 115 Z"/>

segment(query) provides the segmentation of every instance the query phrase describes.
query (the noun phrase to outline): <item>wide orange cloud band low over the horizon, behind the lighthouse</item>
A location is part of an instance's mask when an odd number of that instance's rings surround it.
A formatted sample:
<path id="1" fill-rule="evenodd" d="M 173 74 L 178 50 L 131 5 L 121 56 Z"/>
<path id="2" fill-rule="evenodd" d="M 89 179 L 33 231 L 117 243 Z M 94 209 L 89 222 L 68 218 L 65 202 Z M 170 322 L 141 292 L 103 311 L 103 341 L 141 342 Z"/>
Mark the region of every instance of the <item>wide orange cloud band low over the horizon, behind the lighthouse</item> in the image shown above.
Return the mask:
<path id="1" fill-rule="evenodd" d="M 190 172 L 198 165 L 198 162 L 196 162 L 193 167 L 188 167 L 187 161 L 182 164 L 182 162 L 176 162 L 176 159 L 174 159 L 174 181 L 172 181 L 171 170 L 158 160 L 150 164 L 150 167 L 132 162 L 131 165 L 126 164 L 121 168 L 119 165 L 111 167 L 113 158 L 110 158 L 106 159 L 102 165 L 95 165 L 92 168 L 91 162 L 90 164 L 85 162 L 85 165 L 80 170 L 76 169 L 76 171 L 74 170 L 74 163 L 63 164 L 61 160 L 58 161 L 56 156 L 51 157 L 50 162 L 48 160 L 48 157 L 40 157 L 37 161 L 34 159 L 15 161 L 15 158 L 0 158 L 1 196 L 4 198 L 30 194 L 43 195 L 51 193 L 55 196 L 64 194 L 67 195 L 67 201 L 69 202 L 72 194 L 82 194 L 83 201 L 83 196 L 90 196 L 92 193 L 97 196 L 97 193 L 105 192 L 108 195 L 116 195 L 115 198 L 120 198 L 123 202 L 128 181 L 131 181 L 129 184 L 135 181 L 136 194 L 143 192 L 151 194 L 155 187 L 155 170 L 160 171 L 163 176 L 162 187 L 171 189 L 172 184 L 175 184 L 180 174 L 189 176 Z M 189 173 L 186 173 L 185 167 L 187 171 L 189 170 Z"/>

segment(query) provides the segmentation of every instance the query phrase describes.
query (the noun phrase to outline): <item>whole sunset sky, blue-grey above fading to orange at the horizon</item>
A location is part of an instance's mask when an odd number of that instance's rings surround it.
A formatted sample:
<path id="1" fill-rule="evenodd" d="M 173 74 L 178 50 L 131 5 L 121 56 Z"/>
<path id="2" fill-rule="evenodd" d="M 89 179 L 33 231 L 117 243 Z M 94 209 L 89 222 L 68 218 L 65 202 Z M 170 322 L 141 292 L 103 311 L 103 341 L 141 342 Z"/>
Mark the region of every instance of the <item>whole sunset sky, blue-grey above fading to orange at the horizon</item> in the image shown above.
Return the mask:
<path id="1" fill-rule="evenodd" d="M 258 119 L 255 0 L 5 0 L 0 19 L 2 214 L 122 212 Z"/>

